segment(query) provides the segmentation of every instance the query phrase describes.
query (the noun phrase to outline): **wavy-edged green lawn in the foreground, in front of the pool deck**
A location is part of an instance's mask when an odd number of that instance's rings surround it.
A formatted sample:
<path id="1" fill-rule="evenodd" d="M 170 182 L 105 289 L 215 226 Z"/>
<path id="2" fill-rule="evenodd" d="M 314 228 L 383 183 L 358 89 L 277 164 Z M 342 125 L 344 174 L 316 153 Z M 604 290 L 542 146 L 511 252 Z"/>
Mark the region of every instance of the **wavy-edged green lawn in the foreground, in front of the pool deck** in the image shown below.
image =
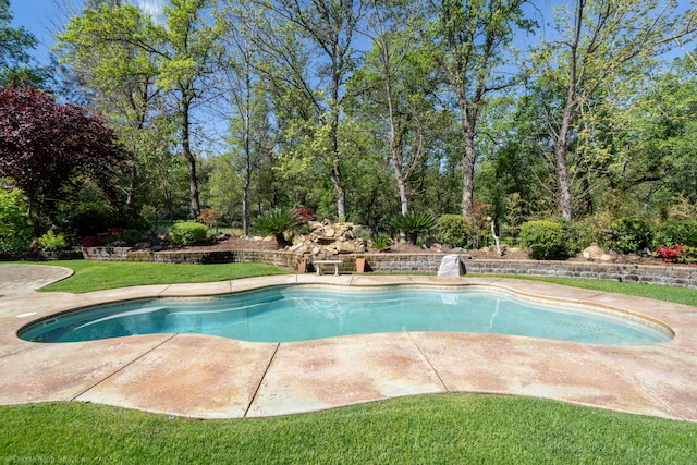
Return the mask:
<path id="1" fill-rule="evenodd" d="M 694 464 L 697 424 L 474 394 L 192 420 L 71 403 L 0 407 L 9 463 Z"/>

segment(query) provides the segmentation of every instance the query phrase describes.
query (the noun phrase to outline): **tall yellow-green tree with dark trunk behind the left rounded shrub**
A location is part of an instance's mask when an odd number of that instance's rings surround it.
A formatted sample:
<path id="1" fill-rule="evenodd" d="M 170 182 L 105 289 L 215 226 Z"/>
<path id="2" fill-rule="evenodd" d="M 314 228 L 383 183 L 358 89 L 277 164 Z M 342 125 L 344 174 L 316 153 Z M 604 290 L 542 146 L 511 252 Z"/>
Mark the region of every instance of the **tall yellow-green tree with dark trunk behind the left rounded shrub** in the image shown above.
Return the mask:
<path id="1" fill-rule="evenodd" d="M 134 154 L 121 185 L 127 209 L 135 207 L 138 192 L 154 188 L 149 180 L 158 171 L 152 167 L 158 149 L 152 143 L 167 145 L 170 138 L 170 125 L 160 118 L 163 93 L 155 85 L 157 56 L 133 44 L 149 27 L 149 17 L 134 5 L 93 1 L 65 25 L 56 46 L 68 77 L 114 123 Z"/>

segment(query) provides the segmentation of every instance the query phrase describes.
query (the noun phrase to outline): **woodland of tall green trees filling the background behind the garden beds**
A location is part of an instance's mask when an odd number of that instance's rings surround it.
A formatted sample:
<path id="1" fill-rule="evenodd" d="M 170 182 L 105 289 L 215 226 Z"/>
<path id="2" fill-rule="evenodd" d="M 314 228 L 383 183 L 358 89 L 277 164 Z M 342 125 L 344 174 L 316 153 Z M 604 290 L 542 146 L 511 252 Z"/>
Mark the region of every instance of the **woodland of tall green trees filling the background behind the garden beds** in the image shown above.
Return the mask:
<path id="1" fill-rule="evenodd" d="M 248 234 L 303 206 L 391 238 L 400 212 L 464 212 L 476 247 L 492 240 L 486 218 L 517 245 L 525 221 L 563 217 L 585 247 L 619 218 L 697 218 L 697 13 L 675 0 L 552 2 L 541 16 L 519 0 L 163 5 L 86 2 L 58 34 L 57 101 L 103 115 L 129 157 L 80 164 L 58 189 L 28 182 L 35 236 L 57 227 L 75 244 L 207 208 Z M 30 68 L 36 42 L 0 7 L 2 71 Z M 32 172 L 63 178 L 84 154 L 65 151 Z M 84 204 L 117 212 L 81 221 Z"/>

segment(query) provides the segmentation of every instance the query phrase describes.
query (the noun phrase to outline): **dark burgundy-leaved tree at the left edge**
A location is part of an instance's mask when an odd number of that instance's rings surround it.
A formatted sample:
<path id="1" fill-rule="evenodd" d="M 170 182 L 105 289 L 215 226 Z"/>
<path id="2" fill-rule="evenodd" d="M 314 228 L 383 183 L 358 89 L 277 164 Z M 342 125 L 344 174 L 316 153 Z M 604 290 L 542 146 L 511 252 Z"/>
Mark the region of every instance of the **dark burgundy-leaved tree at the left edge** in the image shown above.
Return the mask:
<path id="1" fill-rule="evenodd" d="M 27 196 L 35 234 L 41 213 L 81 176 L 113 193 L 113 178 L 126 159 L 115 134 L 76 105 L 58 103 L 34 87 L 0 88 L 0 176 Z M 50 213 L 50 211 L 48 211 Z"/>

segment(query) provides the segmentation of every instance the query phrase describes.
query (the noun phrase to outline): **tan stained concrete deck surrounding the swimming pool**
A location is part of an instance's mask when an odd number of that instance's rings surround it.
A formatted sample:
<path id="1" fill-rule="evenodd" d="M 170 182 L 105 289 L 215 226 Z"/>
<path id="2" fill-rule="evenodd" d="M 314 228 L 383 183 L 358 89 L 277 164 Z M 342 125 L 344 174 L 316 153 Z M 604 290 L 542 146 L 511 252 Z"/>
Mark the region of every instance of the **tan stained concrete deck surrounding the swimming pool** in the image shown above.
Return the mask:
<path id="1" fill-rule="evenodd" d="M 0 265 L 0 404 L 78 401 L 196 418 L 314 412 L 402 395 L 477 392 L 553 399 L 697 421 L 697 307 L 501 278 L 289 274 L 86 294 L 35 290 L 70 276 Z M 479 285 L 644 315 L 675 338 L 607 346 L 447 332 L 252 343 L 149 334 L 42 344 L 20 328 L 75 307 L 129 298 L 221 294 L 273 284 Z"/>

